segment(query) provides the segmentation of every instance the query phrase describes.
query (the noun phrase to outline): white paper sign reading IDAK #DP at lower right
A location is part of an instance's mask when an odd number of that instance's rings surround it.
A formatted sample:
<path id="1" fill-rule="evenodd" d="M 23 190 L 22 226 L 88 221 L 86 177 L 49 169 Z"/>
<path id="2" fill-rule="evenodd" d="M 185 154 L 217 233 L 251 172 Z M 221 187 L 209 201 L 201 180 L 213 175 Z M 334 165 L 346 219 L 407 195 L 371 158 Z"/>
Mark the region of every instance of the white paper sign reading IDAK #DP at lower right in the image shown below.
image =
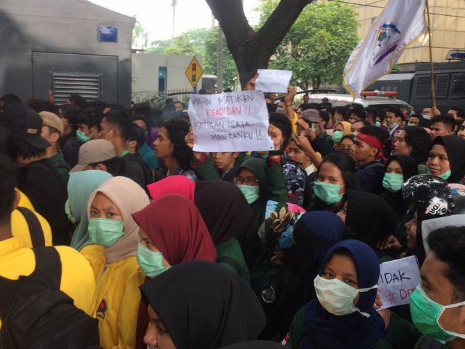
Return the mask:
<path id="1" fill-rule="evenodd" d="M 410 303 L 410 295 L 421 283 L 416 257 L 405 257 L 380 264 L 378 294 L 383 303 L 380 309 Z"/>

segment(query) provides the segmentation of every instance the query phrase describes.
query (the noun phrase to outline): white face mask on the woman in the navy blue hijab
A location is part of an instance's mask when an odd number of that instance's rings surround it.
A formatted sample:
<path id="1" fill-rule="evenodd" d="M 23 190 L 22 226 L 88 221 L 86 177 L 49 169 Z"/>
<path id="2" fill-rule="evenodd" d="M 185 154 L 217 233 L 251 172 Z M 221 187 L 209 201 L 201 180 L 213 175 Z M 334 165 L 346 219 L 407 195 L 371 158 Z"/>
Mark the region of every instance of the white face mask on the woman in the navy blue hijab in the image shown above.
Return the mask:
<path id="1" fill-rule="evenodd" d="M 361 312 L 360 309 L 355 307 L 355 305 L 353 305 L 353 300 L 357 297 L 359 292 L 366 292 L 378 288 L 377 284 L 366 289 L 354 289 L 341 280 L 325 279 L 321 278 L 320 275 L 316 275 L 315 280 L 313 280 L 313 285 L 320 304 L 331 314 L 347 315 L 353 312 L 359 312 L 367 318 L 370 317 L 370 314 Z"/>

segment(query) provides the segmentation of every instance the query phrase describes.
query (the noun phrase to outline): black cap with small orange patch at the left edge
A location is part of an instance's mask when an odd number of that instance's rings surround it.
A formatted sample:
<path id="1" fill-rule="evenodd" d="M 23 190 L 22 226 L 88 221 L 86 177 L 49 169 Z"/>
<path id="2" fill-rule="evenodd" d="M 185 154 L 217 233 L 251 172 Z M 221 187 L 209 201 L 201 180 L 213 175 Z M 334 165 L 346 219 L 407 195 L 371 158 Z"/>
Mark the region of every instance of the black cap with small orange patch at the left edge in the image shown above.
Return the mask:
<path id="1" fill-rule="evenodd" d="M 43 149 L 51 144 L 40 135 L 42 117 L 33 109 L 24 105 L 7 108 L 0 116 L 0 126 L 15 133 L 35 148 Z"/>

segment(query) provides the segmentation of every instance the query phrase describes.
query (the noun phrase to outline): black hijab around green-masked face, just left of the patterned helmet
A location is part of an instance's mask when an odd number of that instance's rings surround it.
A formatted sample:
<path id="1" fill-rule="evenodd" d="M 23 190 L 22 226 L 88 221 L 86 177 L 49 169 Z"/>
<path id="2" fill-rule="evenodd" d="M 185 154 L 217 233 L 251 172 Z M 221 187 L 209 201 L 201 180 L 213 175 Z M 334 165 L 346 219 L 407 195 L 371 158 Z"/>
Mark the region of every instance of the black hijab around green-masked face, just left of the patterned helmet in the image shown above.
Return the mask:
<path id="1" fill-rule="evenodd" d="M 389 166 L 392 160 L 397 160 L 402 168 L 404 182 L 410 177 L 418 174 L 418 164 L 416 160 L 409 155 L 392 155 L 386 164 L 386 168 Z M 396 212 L 396 216 L 400 219 L 405 212 L 407 212 L 407 205 L 405 205 L 404 198 L 402 196 L 402 190 L 399 189 L 395 193 L 387 190 L 382 197 L 391 206 L 392 210 Z"/>

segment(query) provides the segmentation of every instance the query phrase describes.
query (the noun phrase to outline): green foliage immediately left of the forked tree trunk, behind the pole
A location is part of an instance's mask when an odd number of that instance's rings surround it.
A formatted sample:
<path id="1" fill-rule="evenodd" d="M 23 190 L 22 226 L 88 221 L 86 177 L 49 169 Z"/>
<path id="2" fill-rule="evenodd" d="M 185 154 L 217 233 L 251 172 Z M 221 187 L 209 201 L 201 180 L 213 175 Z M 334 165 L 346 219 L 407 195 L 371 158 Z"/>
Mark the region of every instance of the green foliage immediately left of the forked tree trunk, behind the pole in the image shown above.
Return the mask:
<path id="1" fill-rule="evenodd" d="M 218 26 L 209 31 L 204 41 L 203 74 L 217 75 L 218 67 Z M 235 88 L 237 78 L 236 63 L 228 50 L 228 44 L 223 35 L 223 89 Z"/>

